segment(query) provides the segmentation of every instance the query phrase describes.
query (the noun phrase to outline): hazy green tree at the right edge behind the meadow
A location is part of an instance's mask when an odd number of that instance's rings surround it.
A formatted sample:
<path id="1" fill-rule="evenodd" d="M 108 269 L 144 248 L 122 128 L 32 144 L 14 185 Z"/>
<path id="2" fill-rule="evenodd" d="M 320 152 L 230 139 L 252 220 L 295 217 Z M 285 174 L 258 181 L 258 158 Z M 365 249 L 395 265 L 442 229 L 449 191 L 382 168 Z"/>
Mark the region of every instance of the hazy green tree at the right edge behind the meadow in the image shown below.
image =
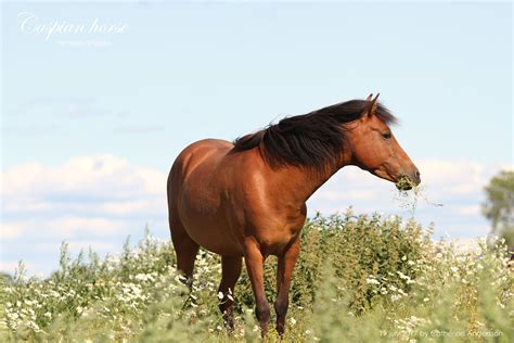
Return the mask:
<path id="1" fill-rule="evenodd" d="M 514 170 L 502 170 L 485 188 L 487 201 L 481 212 L 491 220 L 492 233 L 503 237 L 514 250 Z"/>

